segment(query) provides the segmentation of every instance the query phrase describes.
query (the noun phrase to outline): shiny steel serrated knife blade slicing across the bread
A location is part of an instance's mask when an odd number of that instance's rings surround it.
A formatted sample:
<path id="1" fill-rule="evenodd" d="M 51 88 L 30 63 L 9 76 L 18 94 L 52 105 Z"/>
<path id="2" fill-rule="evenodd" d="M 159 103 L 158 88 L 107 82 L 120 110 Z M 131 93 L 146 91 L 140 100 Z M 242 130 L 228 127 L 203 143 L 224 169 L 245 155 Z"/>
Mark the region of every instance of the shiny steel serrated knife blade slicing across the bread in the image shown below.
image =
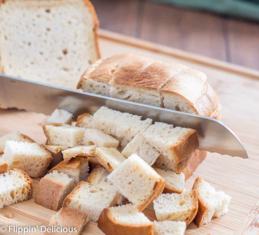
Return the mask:
<path id="1" fill-rule="evenodd" d="M 101 106 L 192 128 L 198 131 L 200 150 L 248 158 L 238 137 L 222 122 L 204 116 L 158 108 L 126 100 L 91 94 L 33 82 L 0 73 L 0 105 L 50 115 L 54 109 L 65 109 L 75 116 L 85 111 L 94 113 Z"/>

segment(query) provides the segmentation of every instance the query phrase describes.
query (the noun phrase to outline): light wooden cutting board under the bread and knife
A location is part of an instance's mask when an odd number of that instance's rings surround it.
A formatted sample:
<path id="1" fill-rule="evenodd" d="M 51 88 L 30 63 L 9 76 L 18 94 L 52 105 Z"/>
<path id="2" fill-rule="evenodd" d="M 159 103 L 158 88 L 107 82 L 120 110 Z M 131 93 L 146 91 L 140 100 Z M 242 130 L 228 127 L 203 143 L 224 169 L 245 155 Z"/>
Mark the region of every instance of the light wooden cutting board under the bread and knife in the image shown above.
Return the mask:
<path id="1" fill-rule="evenodd" d="M 244 143 L 249 159 L 208 154 L 193 176 L 186 181 L 185 188 L 191 189 L 195 178 L 203 177 L 216 189 L 223 190 L 232 197 L 229 212 L 199 229 L 191 223 L 186 234 L 259 234 L 259 72 L 104 30 L 100 31 L 100 49 L 103 57 L 133 52 L 154 59 L 182 63 L 208 75 L 208 82 L 218 93 L 222 105 L 222 122 Z M 46 116 L 39 113 L 0 110 L 0 135 L 20 130 L 38 143 L 45 143 L 46 138 L 41 128 L 45 120 Z M 34 191 L 38 182 L 39 179 L 33 179 Z M 13 216 L 10 219 L 3 217 L 8 212 Z M 155 219 L 153 205 L 149 205 L 144 213 L 151 220 Z M 0 209 L 0 226 L 46 226 L 53 214 L 54 211 L 36 205 L 33 194 L 31 200 Z M 0 234 L 10 233 L 0 231 Z M 82 234 L 103 233 L 95 223 L 89 222 Z"/>

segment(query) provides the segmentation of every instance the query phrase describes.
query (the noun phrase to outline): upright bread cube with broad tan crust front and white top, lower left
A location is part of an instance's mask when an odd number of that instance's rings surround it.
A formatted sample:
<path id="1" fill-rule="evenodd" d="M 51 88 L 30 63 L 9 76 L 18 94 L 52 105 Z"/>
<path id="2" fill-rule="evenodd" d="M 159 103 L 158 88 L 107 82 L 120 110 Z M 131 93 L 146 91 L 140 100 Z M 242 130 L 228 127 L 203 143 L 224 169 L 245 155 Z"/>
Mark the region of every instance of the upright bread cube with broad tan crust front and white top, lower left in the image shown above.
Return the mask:
<path id="1" fill-rule="evenodd" d="M 67 174 L 52 171 L 41 178 L 34 201 L 40 206 L 57 211 L 75 186 L 75 180 Z"/>

